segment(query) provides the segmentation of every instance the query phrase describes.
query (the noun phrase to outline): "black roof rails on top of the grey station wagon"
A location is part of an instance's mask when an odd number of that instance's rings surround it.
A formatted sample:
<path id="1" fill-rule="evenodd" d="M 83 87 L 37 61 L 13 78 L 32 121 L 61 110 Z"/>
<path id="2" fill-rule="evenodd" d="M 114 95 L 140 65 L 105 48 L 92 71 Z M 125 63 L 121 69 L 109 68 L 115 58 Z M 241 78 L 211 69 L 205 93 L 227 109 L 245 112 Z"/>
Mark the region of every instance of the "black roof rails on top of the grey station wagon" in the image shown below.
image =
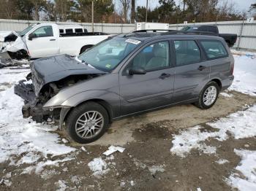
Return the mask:
<path id="1" fill-rule="evenodd" d="M 158 31 L 165 31 L 162 33 L 162 35 L 167 34 L 197 34 L 197 35 L 209 35 L 209 36 L 218 36 L 217 34 L 214 34 L 212 32 L 208 31 L 178 31 L 178 30 L 169 30 L 169 29 L 145 29 L 145 30 L 138 30 L 133 31 L 132 33 L 145 33 L 145 32 L 158 32 Z"/>

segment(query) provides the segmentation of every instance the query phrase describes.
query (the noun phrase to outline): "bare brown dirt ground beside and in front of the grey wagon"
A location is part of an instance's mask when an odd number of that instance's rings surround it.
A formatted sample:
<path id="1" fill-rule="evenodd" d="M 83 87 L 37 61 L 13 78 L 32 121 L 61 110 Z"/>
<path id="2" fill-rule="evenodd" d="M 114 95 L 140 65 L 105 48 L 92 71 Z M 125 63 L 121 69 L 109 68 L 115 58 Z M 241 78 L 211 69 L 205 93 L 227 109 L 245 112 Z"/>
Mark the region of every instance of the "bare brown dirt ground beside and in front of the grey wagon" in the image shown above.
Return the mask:
<path id="1" fill-rule="evenodd" d="M 225 178 L 241 160 L 233 149 L 255 150 L 256 137 L 226 141 L 209 139 L 206 144 L 217 147 L 214 155 L 206 155 L 197 149 L 184 158 L 170 153 L 173 134 L 179 130 L 199 124 L 207 128 L 206 122 L 256 103 L 256 98 L 249 95 L 229 94 L 233 96 L 219 95 L 217 104 L 208 110 L 197 109 L 191 104 L 173 106 L 113 122 L 105 136 L 92 144 L 67 143 L 78 149 L 75 160 L 47 166 L 40 175 L 21 174 L 26 165 L 10 165 L 11 161 L 1 163 L 0 176 L 12 172 L 12 186 L 1 184 L 0 190 L 56 190 L 61 188 L 59 180 L 66 182 L 67 190 L 232 190 Z M 58 133 L 64 137 L 61 131 Z M 111 160 L 102 155 L 109 145 L 125 150 L 115 152 Z M 82 146 L 87 152 L 81 150 Z M 88 166 L 95 157 L 108 161 L 110 168 L 99 178 L 92 175 Z M 225 158 L 229 163 L 216 163 L 219 158 Z M 150 169 L 154 166 L 161 166 L 162 170 L 152 173 Z"/>

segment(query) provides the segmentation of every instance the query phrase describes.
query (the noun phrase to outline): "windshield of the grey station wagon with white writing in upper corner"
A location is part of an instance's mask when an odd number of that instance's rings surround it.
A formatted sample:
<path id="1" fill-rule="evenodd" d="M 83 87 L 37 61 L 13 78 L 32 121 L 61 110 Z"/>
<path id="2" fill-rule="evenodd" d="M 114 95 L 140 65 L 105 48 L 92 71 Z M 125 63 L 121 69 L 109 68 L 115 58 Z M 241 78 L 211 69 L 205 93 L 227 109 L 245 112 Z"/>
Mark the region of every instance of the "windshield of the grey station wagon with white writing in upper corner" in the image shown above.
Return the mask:
<path id="1" fill-rule="evenodd" d="M 114 37 L 83 52 L 78 56 L 78 59 L 96 69 L 112 71 L 138 44 L 140 41 L 135 39 Z"/>

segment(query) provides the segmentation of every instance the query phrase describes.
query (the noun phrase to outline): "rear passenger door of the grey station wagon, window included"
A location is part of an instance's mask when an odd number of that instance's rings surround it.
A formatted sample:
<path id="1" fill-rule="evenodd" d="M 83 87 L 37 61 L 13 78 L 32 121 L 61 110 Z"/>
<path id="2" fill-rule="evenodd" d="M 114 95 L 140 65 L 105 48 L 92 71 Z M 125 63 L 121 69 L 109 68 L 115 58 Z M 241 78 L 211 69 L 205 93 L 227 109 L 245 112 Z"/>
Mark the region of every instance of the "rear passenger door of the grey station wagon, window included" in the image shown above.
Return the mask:
<path id="1" fill-rule="evenodd" d="M 197 98 L 208 82 L 211 63 L 206 61 L 194 39 L 176 39 L 173 46 L 176 58 L 173 101 Z"/>

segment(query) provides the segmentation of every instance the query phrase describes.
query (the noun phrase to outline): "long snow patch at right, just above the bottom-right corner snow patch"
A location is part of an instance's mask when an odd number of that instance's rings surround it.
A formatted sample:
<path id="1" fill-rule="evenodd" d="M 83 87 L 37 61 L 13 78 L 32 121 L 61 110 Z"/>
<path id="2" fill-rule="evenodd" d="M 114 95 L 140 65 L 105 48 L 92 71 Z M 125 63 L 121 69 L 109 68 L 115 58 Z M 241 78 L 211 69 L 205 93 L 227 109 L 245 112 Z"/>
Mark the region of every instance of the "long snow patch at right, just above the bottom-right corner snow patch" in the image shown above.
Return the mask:
<path id="1" fill-rule="evenodd" d="M 180 157 L 185 157 L 191 149 L 200 149 L 206 153 L 214 153 L 215 147 L 206 146 L 202 141 L 209 138 L 214 138 L 219 141 L 224 141 L 228 138 L 227 132 L 235 139 L 243 139 L 256 136 L 256 105 L 250 107 L 246 111 L 239 111 L 223 117 L 216 122 L 208 122 L 212 128 L 218 131 L 208 132 L 201 131 L 203 127 L 200 125 L 194 128 L 181 131 L 178 135 L 173 135 L 173 147 L 170 152 Z"/>

